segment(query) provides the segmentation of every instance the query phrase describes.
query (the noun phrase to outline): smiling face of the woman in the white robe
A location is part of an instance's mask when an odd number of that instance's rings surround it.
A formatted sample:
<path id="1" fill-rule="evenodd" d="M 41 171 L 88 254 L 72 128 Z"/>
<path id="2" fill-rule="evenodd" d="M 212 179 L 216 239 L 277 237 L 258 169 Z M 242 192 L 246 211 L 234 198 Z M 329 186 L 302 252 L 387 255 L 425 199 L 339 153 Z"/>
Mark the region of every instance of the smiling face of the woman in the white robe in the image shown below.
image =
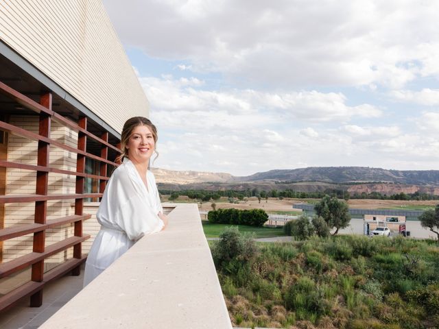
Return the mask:
<path id="1" fill-rule="evenodd" d="M 150 127 L 138 125 L 126 144 L 128 158 L 134 163 L 147 163 L 154 153 L 155 144 Z"/>

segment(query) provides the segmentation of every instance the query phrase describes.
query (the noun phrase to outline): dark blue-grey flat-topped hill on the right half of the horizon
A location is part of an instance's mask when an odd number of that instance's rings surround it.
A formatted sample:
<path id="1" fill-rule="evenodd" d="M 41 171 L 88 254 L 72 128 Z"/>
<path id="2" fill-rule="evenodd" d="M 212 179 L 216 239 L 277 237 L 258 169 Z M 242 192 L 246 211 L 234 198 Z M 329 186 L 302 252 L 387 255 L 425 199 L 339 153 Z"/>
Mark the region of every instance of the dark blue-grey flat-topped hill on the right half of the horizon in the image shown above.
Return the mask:
<path id="1" fill-rule="evenodd" d="M 439 185 L 439 170 L 388 170 L 369 167 L 309 167 L 270 170 L 237 178 L 243 182 L 327 182 L 333 184 L 392 182 L 414 185 Z"/>

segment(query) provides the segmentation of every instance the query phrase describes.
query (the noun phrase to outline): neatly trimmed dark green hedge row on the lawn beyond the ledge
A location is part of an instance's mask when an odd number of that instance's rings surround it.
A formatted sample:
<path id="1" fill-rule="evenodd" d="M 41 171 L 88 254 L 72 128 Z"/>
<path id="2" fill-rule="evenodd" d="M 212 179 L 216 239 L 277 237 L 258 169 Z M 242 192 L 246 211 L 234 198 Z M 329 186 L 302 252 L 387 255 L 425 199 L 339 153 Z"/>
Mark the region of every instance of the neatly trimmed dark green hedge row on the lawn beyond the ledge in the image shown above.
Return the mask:
<path id="1" fill-rule="evenodd" d="M 263 226 L 268 221 L 267 212 L 262 209 L 239 210 L 235 208 L 211 210 L 207 214 L 209 223 Z"/>

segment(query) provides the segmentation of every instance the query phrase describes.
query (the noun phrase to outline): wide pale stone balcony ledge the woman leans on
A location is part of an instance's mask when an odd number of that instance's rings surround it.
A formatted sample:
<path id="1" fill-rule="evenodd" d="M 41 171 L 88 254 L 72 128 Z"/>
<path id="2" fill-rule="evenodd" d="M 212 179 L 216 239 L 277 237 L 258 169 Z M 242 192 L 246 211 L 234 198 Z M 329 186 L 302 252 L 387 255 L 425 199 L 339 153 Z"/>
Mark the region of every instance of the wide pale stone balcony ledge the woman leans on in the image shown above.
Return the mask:
<path id="1" fill-rule="evenodd" d="M 195 204 L 144 236 L 40 328 L 232 328 Z"/>

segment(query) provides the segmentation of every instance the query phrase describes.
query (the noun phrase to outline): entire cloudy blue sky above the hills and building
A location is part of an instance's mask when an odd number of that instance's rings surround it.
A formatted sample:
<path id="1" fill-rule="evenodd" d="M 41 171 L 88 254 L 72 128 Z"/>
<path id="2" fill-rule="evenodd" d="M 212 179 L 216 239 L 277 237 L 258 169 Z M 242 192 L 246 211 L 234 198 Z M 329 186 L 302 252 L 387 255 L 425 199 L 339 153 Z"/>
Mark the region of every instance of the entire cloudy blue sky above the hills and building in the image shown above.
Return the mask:
<path id="1" fill-rule="evenodd" d="M 439 1 L 104 0 L 153 167 L 439 169 Z"/>

